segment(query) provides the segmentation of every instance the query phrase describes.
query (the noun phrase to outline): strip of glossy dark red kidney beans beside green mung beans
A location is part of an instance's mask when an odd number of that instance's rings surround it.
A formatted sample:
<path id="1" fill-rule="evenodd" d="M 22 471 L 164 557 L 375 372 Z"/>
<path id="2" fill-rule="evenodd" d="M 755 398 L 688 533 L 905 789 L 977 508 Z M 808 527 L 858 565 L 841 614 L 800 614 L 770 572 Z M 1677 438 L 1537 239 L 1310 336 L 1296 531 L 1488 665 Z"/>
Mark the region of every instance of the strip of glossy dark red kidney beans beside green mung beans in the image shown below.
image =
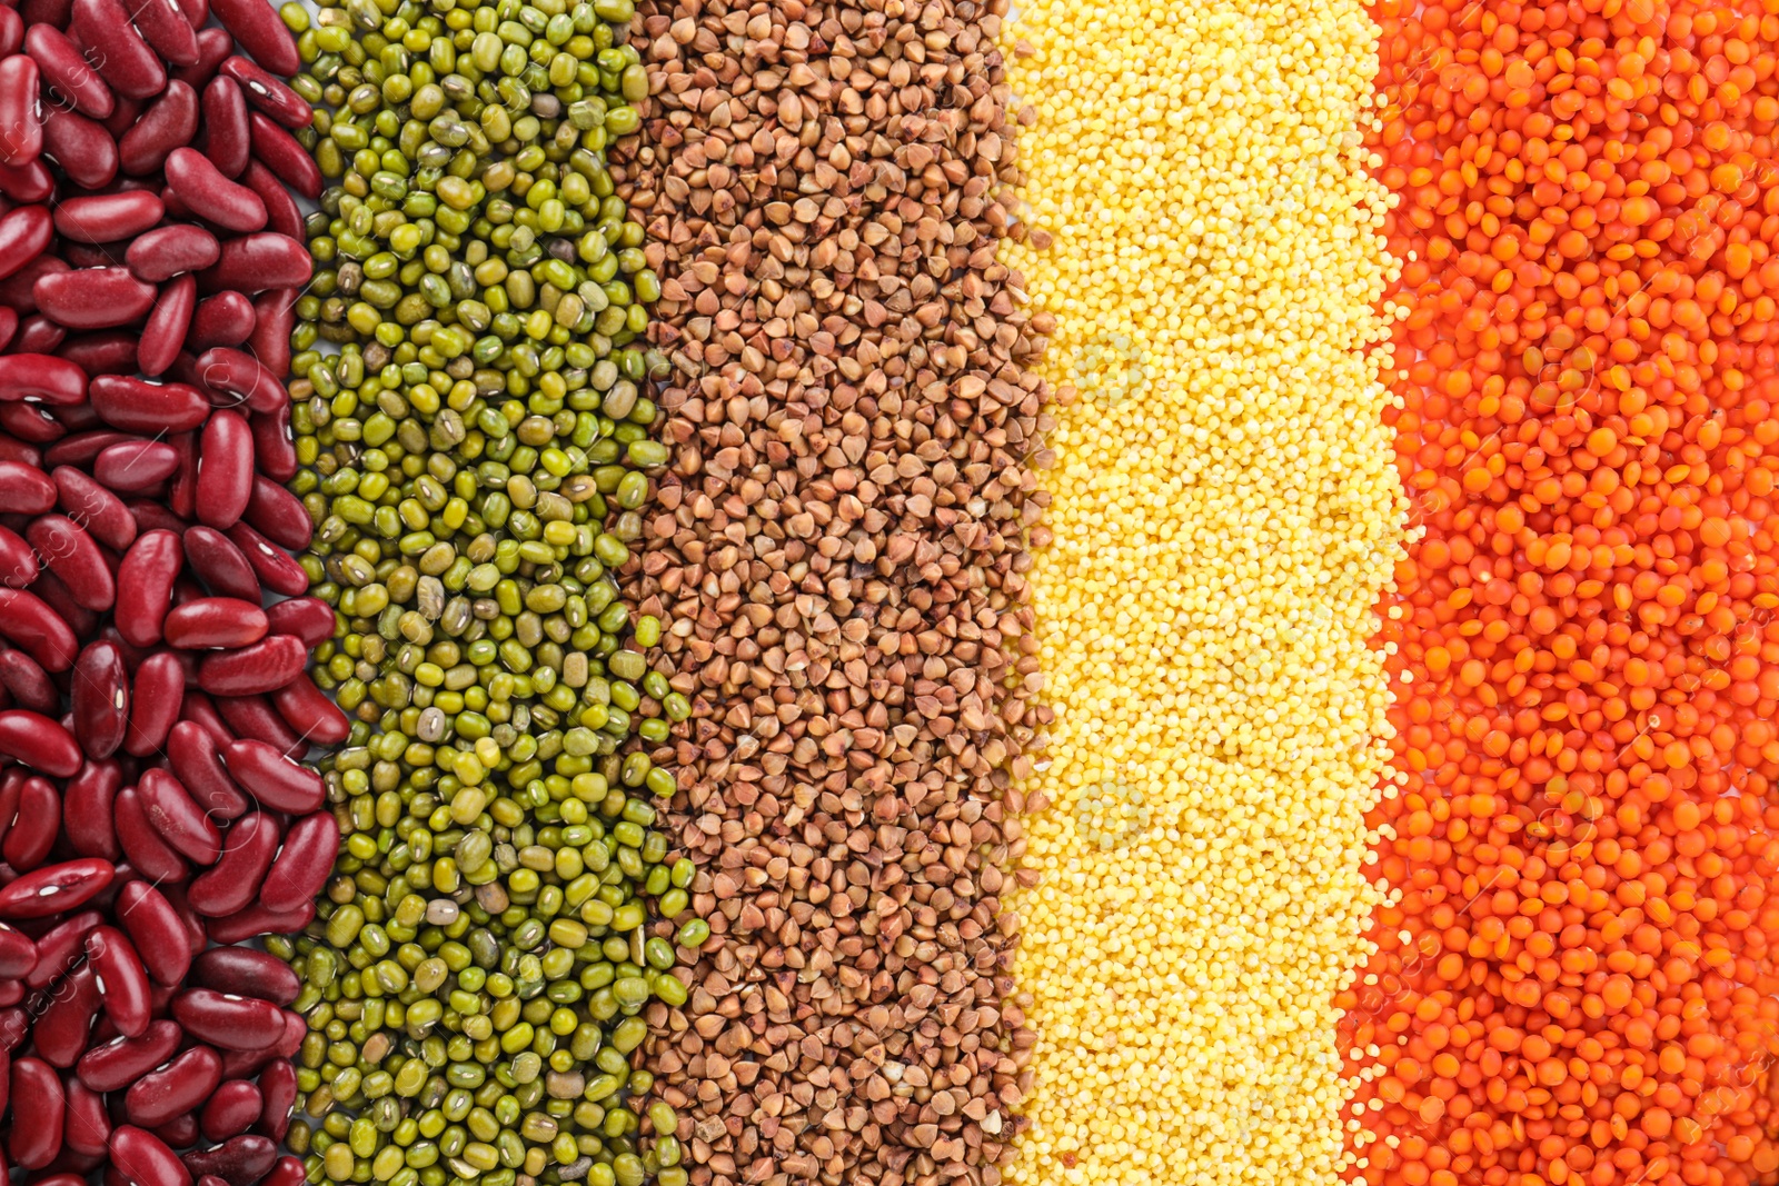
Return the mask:
<path id="1" fill-rule="evenodd" d="M 265 0 L 0 7 L 0 1172 L 32 1186 L 302 1181 L 297 976 L 215 946 L 306 925 L 340 845 L 295 761 L 347 734 L 286 551 L 297 66 Z"/>

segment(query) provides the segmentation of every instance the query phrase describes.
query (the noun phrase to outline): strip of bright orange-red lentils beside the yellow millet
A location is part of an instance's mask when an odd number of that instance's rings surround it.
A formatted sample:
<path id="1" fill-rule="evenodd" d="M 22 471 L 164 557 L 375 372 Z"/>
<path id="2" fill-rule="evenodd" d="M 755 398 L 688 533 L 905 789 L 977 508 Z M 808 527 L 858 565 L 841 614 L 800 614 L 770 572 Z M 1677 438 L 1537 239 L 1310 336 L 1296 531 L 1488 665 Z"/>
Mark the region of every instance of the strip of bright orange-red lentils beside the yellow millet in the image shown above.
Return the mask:
<path id="1" fill-rule="evenodd" d="M 1779 1170 L 1779 12 L 1373 9 L 1411 546 L 1372 1186 Z"/>

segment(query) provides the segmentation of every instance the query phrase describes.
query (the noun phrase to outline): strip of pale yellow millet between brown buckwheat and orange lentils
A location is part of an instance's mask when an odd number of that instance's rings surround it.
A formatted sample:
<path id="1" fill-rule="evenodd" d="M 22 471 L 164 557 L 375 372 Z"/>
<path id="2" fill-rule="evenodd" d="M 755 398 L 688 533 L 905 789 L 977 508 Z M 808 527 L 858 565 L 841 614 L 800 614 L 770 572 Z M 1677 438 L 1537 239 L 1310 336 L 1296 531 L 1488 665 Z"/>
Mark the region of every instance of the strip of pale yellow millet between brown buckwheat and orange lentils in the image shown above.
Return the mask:
<path id="1" fill-rule="evenodd" d="M 1388 201 L 1356 0 L 1023 4 L 1030 226 L 1062 388 L 1025 786 L 1018 1186 L 1334 1182 L 1334 992 L 1368 944 L 1388 752 L 1368 649 L 1404 501 Z M 1025 44 L 1019 44 L 1025 43 Z M 1080 388 L 1067 404 L 1067 386 Z M 1046 805 L 1048 804 L 1048 805 Z"/>

